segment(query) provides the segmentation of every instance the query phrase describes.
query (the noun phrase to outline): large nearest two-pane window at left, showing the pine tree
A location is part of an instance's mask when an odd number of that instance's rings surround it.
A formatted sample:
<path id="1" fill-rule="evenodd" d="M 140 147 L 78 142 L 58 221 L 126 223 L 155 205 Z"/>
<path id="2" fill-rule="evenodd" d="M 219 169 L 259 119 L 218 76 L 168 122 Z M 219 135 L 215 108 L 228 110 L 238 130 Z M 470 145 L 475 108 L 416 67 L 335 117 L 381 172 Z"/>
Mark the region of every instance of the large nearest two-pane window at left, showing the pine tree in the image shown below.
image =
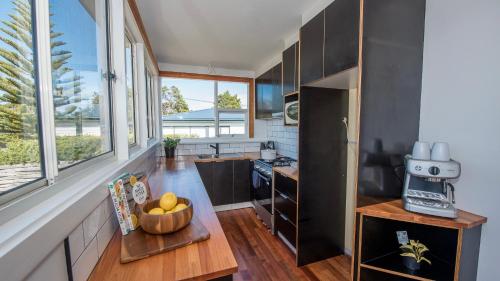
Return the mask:
<path id="1" fill-rule="evenodd" d="M 0 7 L 0 203 L 113 153 L 108 2 L 33 3 Z"/>

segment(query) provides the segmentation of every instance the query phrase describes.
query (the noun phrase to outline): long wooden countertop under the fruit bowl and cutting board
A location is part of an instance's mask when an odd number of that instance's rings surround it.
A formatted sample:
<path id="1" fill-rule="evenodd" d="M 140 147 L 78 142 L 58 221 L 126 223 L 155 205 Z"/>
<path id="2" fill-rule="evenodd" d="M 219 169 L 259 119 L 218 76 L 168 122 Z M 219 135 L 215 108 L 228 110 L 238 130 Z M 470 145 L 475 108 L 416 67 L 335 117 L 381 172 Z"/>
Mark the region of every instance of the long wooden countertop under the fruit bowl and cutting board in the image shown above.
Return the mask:
<path id="1" fill-rule="evenodd" d="M 162 158 L 149 177 L 153 198 L 166 191 L 192 200 L 194 215 L 210 232 L 210 239 L 135 262 L 120 263 L 121 233 L 118 229 L 89 280 L 206 280 L 238 271 L 238 264 L 201 178 L 195 156 Z"/>

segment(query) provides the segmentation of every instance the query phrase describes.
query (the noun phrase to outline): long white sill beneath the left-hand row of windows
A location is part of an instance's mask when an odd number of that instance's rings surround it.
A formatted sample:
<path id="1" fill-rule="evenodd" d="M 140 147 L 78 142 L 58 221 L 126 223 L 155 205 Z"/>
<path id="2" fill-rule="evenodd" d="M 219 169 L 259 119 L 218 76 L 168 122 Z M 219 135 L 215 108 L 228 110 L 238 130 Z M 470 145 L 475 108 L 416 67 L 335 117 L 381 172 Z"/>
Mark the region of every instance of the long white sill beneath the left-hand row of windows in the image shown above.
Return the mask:
<path id="1" fill-rule="evenodd" d="M 109 192 L 107 181 L 127 165 L 154 153 L 156 144 L 129 160 L 115 157 L 75 172 L 0 209 L 0 272 L 6 280 L 23 279 L 94 210 Z M 29 256 L 29 259 L 26 257 Z M 23 266 L 14 266 L 23 260 Z"/>

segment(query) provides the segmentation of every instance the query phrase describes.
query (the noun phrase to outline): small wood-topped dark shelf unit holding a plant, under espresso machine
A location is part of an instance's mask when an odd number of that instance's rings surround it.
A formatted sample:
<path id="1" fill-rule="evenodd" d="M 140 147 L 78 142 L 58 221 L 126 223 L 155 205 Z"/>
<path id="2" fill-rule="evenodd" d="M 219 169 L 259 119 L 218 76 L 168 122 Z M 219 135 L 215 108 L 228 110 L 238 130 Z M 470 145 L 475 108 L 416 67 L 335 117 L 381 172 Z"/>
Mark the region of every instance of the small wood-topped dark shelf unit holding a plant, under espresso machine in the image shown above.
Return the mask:
<path id="1" fill-rule="evenodd" d="M 486 218 L 458 211 L 457 219 L 411 213 L 401 200 L 356 209 L 353 280 L 475 280 L 481 226 Z M 430 251 L 432 265 L 407 269 L 400 256 L 396 231 L 419 240 Z"/>

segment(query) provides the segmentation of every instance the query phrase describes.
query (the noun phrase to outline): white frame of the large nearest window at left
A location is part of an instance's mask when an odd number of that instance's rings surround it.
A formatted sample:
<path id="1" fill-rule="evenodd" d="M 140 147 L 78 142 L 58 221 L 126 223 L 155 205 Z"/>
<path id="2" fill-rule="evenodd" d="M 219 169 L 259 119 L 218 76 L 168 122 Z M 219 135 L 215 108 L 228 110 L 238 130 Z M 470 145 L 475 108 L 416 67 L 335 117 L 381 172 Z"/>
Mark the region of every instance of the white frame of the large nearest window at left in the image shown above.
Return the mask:
<path id="1" fill-rule="evenodd" d="M 106 28 L 106 64 L 107 71 L 111 73 L 113 68 L 112 48 L 111 48 L 111 14 L 110 1 L 104 0 L 105 24 Z M 103 160 L 115 156 L 115 133 L 114 133 L 114 112 L 113 112 L 113 81 L 103 74 L 107 80 L 105 89 L 107 91 L 109 103 L 109 134 L 110 150 L 100 155 L 81 160 L 65 167 L 58 166 L 56 130 L 55 130 L 55 110 L 53 102 L 54 87 L 52 83 L 52 58 L 50 39 L 50 0 L 30 1 L 31 18 L 33 32 L 33 68 L 35 69 L 35 91 L 37 94 L 37 117 L 40 144 L 40 167 L 41 177 L 39 179 L 16 186 L 0 195 L 0 206 L 10 202 L 21 200 L 23 196 L 38 189 L 50 187 L 60 181 L 64 181 L 76 171 L 87 169 L 101 163 Z"/>

